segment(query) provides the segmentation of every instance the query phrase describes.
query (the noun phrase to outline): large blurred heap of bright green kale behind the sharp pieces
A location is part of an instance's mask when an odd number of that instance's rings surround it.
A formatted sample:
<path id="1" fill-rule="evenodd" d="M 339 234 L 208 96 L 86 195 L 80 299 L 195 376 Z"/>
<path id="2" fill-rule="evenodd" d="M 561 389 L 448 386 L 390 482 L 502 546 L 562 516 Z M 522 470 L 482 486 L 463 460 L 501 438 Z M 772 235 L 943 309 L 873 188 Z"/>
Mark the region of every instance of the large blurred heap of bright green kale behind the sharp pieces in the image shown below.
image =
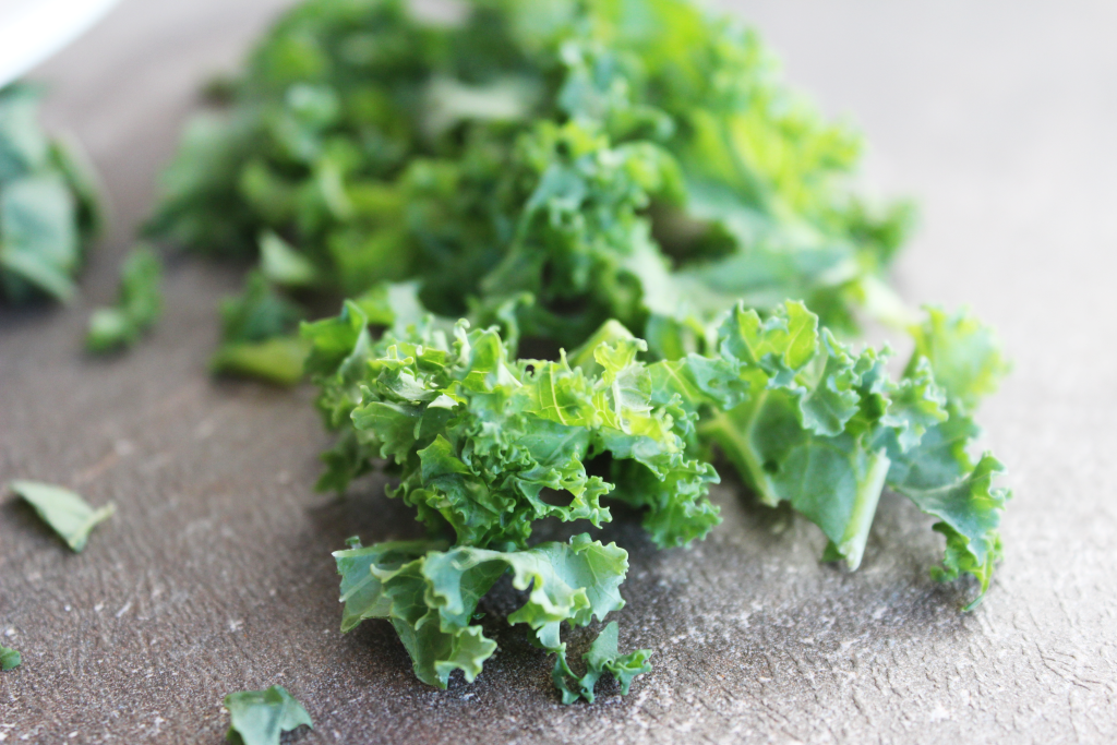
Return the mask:
<path id="1" fill-rule="evenodd" d="M 567 348 L 617 318 L 662 355 L 741 299 L 887 315 L 910 209 L 850 190 L 859 139 L 754 34 L 687 0 L 468 7 L 304 2 L 188 130 L 151 232 L 300 297 L 414 279 L 487 325 L 527 294 L 524 335 Z"/>

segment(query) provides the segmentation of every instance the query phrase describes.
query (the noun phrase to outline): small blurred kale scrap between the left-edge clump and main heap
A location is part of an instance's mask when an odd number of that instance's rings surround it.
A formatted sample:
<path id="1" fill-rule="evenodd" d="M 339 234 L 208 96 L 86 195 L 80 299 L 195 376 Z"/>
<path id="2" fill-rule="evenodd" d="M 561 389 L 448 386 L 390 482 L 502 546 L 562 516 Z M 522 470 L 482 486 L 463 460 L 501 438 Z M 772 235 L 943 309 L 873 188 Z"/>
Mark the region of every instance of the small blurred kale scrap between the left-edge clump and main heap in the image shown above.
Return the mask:
<path id="1" fill-rule="evenodd" d="M 121 267 L 116 305 L 97 308 L 89 317 L 86 345 L 90 352 L 132 346 L 155 324 L 163 308 L 162 278 L 159 257 L 146 246 L 133 249 Z"/>

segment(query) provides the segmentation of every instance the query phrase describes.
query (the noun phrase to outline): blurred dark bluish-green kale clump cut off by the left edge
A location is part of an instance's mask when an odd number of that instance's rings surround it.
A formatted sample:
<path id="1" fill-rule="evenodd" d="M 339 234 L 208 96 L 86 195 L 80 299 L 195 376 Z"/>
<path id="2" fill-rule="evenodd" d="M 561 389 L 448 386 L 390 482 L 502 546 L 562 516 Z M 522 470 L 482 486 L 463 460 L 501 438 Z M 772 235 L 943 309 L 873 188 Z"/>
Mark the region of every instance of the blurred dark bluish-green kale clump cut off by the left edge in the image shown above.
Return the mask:
<path id="1" fill-rule="evenodd" d="M 73 145 L 37 120 L 39 92 L 0 88 L 0 298 L 68 300 L 101 227 L 97 189 Z"/>

